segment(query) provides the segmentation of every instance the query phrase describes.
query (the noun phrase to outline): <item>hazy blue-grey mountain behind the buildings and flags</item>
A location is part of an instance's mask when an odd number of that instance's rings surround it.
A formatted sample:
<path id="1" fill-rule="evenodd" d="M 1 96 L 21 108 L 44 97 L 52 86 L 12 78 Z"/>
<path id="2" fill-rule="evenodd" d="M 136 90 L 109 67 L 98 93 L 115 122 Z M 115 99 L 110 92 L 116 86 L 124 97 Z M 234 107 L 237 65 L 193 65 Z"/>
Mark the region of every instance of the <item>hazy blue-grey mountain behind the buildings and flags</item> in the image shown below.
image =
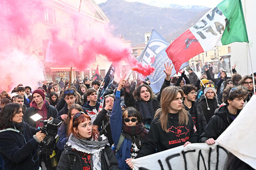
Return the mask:
<path id="1" fill-rule="evenodd" d="M 110 25 L 114 25 L 114 34 L 131 40 L 132 45 L 143 44 L 144 34 L 151 31 L 151 28 L 166 40 L 172 41 L 175 35 L 180 34 L 180 29 L 184 29 L 184 26 L 188 29 L 191 21 L 197 22 L 209 10 L 209 8 L 159 8 L 124 0 L 108 0 L 99 6 L 110 19 Z"/>

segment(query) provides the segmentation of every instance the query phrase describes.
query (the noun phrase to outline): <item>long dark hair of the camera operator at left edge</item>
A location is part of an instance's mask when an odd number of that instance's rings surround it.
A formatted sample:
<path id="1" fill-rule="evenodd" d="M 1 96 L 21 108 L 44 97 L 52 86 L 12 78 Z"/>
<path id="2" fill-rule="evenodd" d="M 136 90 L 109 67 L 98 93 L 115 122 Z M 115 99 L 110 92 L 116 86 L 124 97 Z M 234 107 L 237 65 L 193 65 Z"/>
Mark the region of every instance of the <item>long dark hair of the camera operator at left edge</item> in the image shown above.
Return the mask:
<path id="1" fill-rule="evenodd" d="M 11 120 L 20 108 L 22 108 L 22 106 L 18 103 L 9 103 L 3 107 L 0 114 L 0 129 L 13 127 Z"/>

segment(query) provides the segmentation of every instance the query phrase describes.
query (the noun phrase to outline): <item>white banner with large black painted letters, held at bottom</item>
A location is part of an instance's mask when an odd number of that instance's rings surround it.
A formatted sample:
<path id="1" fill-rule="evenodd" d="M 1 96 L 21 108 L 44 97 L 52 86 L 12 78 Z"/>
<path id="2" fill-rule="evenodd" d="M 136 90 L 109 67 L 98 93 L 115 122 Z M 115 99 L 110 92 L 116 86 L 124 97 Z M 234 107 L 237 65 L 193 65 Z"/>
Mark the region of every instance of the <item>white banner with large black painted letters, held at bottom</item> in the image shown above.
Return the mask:
<path id="1" fill-rule="evenodd" d="M 224 169 L 228 151 L 218 144 L 188 144 L 132 160 L 134 170 Z"/>

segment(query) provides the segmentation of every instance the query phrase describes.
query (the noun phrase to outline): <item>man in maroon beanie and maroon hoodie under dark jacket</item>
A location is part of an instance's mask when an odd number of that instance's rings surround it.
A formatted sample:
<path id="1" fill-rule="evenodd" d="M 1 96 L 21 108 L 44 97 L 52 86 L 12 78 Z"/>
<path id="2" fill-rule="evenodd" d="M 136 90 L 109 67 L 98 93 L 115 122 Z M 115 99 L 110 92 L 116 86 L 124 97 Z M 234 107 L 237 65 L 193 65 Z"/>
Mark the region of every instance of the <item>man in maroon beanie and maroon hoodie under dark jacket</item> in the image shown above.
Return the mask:
<path id="1" fill-rule="evenodd" d="M 45 94 L 43 89 L 36 89 L 35 91 L 33 91 L 32 97 L 34 99 L 34 101 L 32 102 L 32 106 L 25 111 L 23 118 L 26 123 L 28 123 L 32 127 L 42 127 L 43 123 L 41 123 L 40 121 L 35 122 L 30 118 L 30 116 L 36 113 L 43 117 L 42 120 L 48 120 L 50 119 L 50 117 L 57 118 L 58 111 L 55 107 L 50 105 L 47 100 L 45 100 Z"/>

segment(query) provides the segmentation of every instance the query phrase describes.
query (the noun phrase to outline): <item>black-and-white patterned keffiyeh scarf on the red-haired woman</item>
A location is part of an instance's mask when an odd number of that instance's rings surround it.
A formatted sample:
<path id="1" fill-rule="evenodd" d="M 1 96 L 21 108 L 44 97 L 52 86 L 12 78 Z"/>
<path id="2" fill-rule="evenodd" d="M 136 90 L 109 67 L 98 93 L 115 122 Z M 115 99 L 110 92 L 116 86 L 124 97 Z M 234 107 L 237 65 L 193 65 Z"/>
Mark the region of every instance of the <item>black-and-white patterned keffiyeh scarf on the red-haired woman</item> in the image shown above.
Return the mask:
<path id="1" fill-rule="evenodd" d="M 101 135 L 101 141 L 95 141 L 93 138 L 91 140 L 78 139 L 73 134 L 69 136 L 66 145 L 71 146 L 76 151 L 83 153 L 88 153 L 92 155 L 93 160 L 91 160 L 91 169 L 100 170 L 101 169 L 101 158 L 100 151 L 102 151 L 105 146 L 109 146 L 109 141 L 106 136 Z"/>

